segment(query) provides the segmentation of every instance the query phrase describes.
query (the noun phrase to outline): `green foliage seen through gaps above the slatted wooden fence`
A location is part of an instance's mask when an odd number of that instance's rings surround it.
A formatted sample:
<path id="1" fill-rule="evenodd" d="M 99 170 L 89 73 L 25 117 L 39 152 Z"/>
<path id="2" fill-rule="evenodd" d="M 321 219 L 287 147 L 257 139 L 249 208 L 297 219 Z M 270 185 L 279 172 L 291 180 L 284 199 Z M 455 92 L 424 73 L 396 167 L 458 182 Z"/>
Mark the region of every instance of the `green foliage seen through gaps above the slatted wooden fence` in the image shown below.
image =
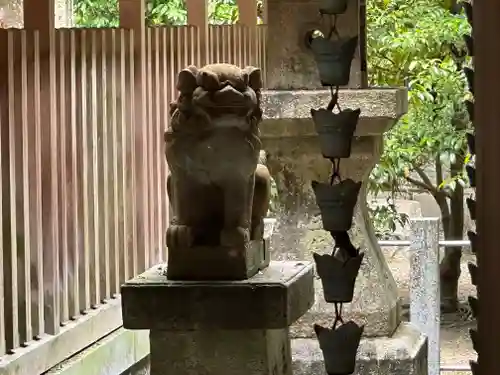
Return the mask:
<path id="1" fill-rule="evenodd" d="M 118 0 L 73 0 L 75 23 L 79 27 L 118 27 Z M 184 0 L 147 0 L 146 20 L 149 25 L 185 25 Z M 231 24 L 238 20 L 235 0 L 210 0 L 210 23 Z"/>

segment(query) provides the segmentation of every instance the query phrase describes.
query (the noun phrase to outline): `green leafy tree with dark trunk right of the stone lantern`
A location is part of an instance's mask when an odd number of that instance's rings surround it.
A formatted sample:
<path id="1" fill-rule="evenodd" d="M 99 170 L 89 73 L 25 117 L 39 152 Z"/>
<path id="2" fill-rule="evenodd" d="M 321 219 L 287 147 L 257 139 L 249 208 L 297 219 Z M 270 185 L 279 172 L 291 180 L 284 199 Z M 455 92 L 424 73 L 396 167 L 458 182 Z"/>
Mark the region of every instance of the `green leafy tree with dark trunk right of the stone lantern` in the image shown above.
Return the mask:
<path id="1" fill-rule="evenodd" d="M 456 3 L 443 0 L 367 1 L 371 85 L 407 86 L 408 113 L 387 134 L 371 190 L 397 192 L 413 185 L 441 210 L 445 239 L 462 239 L 464 224 L 466 80 L 451 53 L 464 49 L 469 25 Z M 435 170 L 435 176 L 427 171 Z M 441 305 L 457 308 L 461 248 L 441 262 Z"/>

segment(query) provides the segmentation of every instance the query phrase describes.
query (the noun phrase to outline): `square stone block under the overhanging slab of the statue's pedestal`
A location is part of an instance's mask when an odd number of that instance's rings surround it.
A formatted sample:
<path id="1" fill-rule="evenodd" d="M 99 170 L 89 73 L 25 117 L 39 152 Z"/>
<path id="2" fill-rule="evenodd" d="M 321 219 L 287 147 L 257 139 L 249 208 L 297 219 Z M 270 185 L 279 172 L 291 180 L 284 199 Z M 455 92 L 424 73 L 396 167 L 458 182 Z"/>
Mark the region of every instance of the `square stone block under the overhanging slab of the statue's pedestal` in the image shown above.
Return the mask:
<path id="1" fill-rule="evenodd" d="M 151 375 L 292 375 L 288 329 L 151 331 Z"/>

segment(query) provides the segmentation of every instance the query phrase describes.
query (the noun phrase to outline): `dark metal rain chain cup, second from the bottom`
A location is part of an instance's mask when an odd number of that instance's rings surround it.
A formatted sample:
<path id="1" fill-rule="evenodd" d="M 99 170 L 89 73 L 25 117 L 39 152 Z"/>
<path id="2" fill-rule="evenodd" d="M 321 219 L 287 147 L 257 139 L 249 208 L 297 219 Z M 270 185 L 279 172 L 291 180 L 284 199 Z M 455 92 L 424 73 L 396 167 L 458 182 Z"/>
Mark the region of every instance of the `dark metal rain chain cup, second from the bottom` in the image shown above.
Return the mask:
<path id="1" fill-rule="evenodd" d="M 313 253 L 316 271 L 323 284 L 323 295 L 328 303 L 349 303 L 354 294 L 354 285 L 364 253 L 354 258 L 339 259 L 335 254 Z"/>

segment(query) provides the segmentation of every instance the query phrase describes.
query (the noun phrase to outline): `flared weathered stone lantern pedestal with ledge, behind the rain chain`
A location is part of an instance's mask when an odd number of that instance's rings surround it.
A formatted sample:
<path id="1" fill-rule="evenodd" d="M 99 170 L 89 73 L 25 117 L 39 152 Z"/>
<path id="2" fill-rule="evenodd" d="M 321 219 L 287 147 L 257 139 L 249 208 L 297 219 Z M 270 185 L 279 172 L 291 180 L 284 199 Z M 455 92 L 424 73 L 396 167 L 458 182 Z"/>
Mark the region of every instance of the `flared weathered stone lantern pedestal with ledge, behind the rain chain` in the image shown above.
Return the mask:
<path id="1" fill-rule="evenodd" d="M 280 212 L 271 240 L 271 258 L 311 260 L 312 253 L 330 253 L 333 241 L 322 230 L 312 180 L 326 181 L 331 163 L 320 152 L 310 109 L 327 105 L 327 91 L 268 91 L 263 93 L 264 122 L 261 137 L 268 166 L 279 191 Z M 343 90 L 343 108 L 361 108 L 358 137 L 352 155 L 341 161 L 341 175 L 363 181 L 358 197 L 353 243 L 365 252 L 354 300 L 345 314 L 365 325 L 365 336 L 390 336 L 400 322 L 397 287 L 387 267 L 368 217 L 368 176 L 382 151 L 382 134 L 407 108 L 404 89 Z M 332 306 L 324 302 L 321 281 L 315 279 L 316 303 L 294 326 L 294 337 L 314 337 L 312 325 L 329 324 Z"/>

